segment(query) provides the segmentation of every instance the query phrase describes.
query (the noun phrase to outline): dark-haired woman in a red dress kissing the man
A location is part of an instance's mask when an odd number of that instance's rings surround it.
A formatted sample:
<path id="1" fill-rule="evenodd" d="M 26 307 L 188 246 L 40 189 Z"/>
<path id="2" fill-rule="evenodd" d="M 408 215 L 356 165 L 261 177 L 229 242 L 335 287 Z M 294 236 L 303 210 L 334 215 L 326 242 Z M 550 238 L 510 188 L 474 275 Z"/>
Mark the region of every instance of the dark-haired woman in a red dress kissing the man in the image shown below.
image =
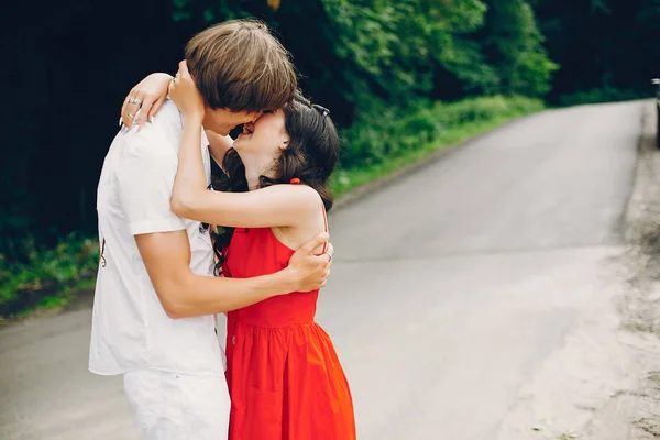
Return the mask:
<path id="1" fill-rule="evenodd" d="M 340 141 L 327 109 L 297 95 L 245 124 L 222 161 L 221 191 L 208 191 L 199 151 L 204 101 L 185 62 L 169 96 L 184 118 L 172 208 L 233 228 L 216 240 L 226 276 L 279 271 L 295 249 L 328 230 L 326 185 Z M 314 321 L 317 298 L 318 290 L 293 293 L 228 314 L 230 439 L 355 438 L 348 382 Z"/>

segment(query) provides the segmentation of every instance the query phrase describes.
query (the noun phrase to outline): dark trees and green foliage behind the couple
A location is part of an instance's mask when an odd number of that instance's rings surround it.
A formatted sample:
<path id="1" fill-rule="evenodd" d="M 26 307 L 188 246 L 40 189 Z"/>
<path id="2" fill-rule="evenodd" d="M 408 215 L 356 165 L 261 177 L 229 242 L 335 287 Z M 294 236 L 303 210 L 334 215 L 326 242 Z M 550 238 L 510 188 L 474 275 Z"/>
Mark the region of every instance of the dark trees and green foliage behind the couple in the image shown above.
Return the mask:
<path id="1" fill-rule="evenodd" d="M 70 231 L 95 233 L 122 98 L 147 73 L 172 73 L 185 42 L 218 21 L 276 30 L 306 92 L 344 130 L 344 169 L 441 134 L 453 117 L 432 111 L 438 101 L 627 99 L 660 75 L 660 0 L 64 0 L 6 12 L 3 268 Z"/>

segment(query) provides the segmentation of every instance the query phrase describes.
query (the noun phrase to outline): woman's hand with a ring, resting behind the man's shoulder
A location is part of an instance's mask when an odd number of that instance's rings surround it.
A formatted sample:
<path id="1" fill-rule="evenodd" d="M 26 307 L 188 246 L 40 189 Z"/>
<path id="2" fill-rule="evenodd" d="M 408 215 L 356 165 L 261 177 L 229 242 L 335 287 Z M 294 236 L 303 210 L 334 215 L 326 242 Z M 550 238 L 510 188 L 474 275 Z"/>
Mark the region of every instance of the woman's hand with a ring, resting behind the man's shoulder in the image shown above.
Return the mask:
<path id="1" fill-rule="evenodd" d="M 167 98 L 170 81 L 172 75 L 167 74 L 151 74 L 141 80 L 124 99 L 121 107 L 121 122 L 129 128 L 133 127 L 133 120 L 138 125 L 142 125 L 144 121 L 153 122 Z"/>

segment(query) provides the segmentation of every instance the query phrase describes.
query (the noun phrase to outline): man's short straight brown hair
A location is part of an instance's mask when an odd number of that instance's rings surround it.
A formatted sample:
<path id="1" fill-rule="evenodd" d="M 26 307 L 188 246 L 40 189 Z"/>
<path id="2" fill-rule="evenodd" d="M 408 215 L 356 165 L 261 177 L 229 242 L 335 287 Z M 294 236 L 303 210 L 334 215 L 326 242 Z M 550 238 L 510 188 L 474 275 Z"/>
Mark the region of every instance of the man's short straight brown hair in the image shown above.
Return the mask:
<path id="1" fill-rule="evenodd" d="M 276 109 L 297 89 L 289 53 L 256 20 L 227 21 L 200 32 L 186 45 L 186 61 L 212 109 Z"/>

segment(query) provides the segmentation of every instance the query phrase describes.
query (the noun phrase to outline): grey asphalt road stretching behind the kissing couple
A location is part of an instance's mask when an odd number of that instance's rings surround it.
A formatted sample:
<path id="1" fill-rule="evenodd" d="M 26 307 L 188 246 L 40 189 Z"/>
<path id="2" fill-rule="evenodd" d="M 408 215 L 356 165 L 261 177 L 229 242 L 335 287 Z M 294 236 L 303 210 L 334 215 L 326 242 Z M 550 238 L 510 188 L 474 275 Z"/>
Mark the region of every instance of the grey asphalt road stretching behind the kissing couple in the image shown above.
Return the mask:
<path id="1" fill-rule="evenodd" d="M 360 439 L 494 440 L 521 384 L 607 288 L 641 102 L 525 118 L 331 216 L 318 320 Z M 139 439 L 87 372 L 90 310 L 0 330 L 0 439 Z"/>

